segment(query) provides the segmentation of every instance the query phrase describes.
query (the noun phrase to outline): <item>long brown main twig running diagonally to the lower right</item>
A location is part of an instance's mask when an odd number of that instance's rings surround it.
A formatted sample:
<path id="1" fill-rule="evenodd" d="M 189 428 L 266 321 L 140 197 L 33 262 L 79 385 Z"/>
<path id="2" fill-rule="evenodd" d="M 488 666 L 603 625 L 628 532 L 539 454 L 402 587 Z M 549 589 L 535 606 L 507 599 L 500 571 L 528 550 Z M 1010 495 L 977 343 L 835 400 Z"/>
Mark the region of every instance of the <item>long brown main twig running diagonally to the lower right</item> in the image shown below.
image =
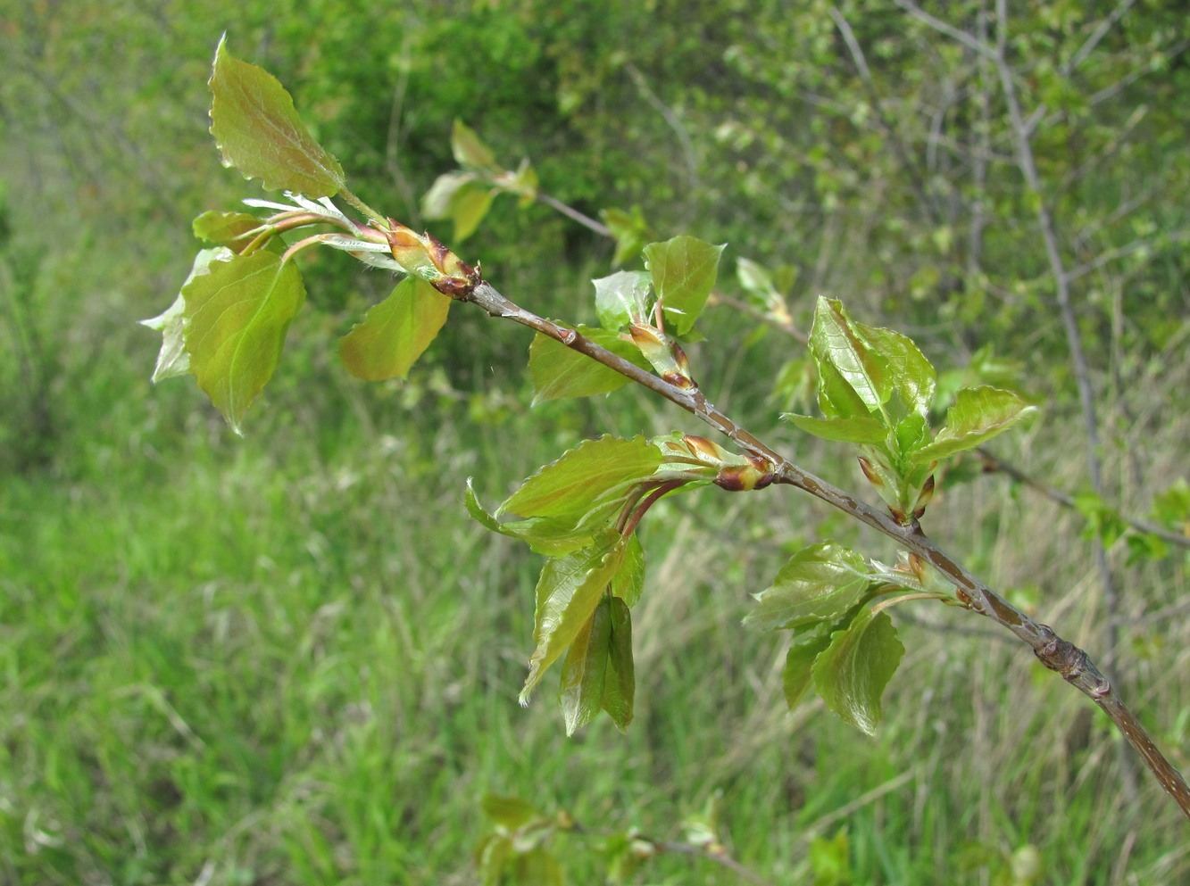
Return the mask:
<path id="1" fill-rule="evenodd" d="M 838 486 L 803 471 L 775 450 L 770 448 L 746 428 L 737 425 L 728 415 L 715 408 L 699 388 L 678 388 L 640 369 L 633 363 L 596 345 L 577 331 L 533 314 L 501 295 L 482 277 L 459 291 L 447 295 L 458 301 L 471 302 L 483 308 L 490 316 L 512 320 L 547 335 L 566 347 L 620 372 L 654 394 L 697 416 L 713 428 L 733 440 L 745 452 L 765 460 L 771 466 L 776 483 L 795 486 L 844 511 L 853 520 L 889 536 L 898 545 L 917 554 L 942 573 L 957 589 L 959 599 L 971 610 L 988 616 L 1010 630 L 1033 649 L 1042 665 L 1057 671 L 1063 679 L 1088 696 L 1108 715 L 1128 742 L 1145 760 L 1146 766 L 1173 798 L 1183 815 L 1190 819 L 1190 787 L 1148 737 L 1139 721 L 1121 702 L 1110 681 L 1094 665 L 1088 654 L 1067 640 L 1058 636 L 1047 626 L 1013 607 L 1007 599 L 970 573 L 957 560 L 938 547 L 922 532 L 916 521 L 908 526 L 896 522 L 888 513 L 854 498 Z"/>

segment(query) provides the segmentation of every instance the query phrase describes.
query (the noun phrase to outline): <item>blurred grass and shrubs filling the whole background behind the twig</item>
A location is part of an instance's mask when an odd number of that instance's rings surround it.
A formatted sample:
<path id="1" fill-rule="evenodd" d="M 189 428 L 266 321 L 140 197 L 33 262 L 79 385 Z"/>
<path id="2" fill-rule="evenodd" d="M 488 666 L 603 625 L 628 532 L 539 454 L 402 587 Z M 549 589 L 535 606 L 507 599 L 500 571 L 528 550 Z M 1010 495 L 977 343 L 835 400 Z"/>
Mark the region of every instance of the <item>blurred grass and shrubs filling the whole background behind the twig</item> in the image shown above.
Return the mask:
<path id="1" fill-rule="evenodd" d="M 206 131 L 226 30 L 294 93 L 353 189 L 407 224 L 453 165 L 462 118 L 591 215 L 640 206 L 662 235 L 727 240 L 772 270 L 801 328 L 825 291 L 940 367 L 1034 397 L 1044 420 L 997 451 L 1085 494 L 1082 511 L 969 464 L 931 530 L 1109 664 L 1185 767 L 1185 548 L 1114 517 L 1190 526 L 1175 485 L 1185 17 L 1144 1 L 1010 11 L 1034 188 L 996 71 L 903 6 L 0 8 L 0 879 L 472 882 L 487 792 L 658 837 L 715 800 L 732 854 L 781 882 L 1186 876 L 1184 823 L 1122 766 L 1106 721 L 962 612 L 894 610 L 908 654 L 877 740 L 820 704 L 787 712 L 783 649 L 739 624 L 747 595 L 821 536 L 892 558 L 788 494 L 658 507 L 645 532 L 668 553 L 638 610 L 627 737 L 600 722 L 565 740 L 545 693 L 519 709 L 534 564 L 466 520 L 463 479 L 494 499 L 582 435 L 701 429 L 635 394 L 531 410 L 516 329 L 456 318 L 411 382 L 358 384 L 333 333 L 389 281 L 318 256 L 312 309 L 245 440 L 193 385 L 148 383 L 158 343 L 134 321 L 184 278 L 189 219 L 255 193 L 220 171 Z M 929 12 L 995 38 L 977 0 Z M 1097 492 L 1039 206 L 1088 356 Z M 519 301 L 578 319 L 612 259 L 589 231 L 507 199 L 458 251 Z M 796 372 L 775 377 L 801 346 L 727 306 L 704 327 L 695 375 L 772 426 L 798 396 Z M 829 447 L 771 438 L 858 488 Z M 839 832 L 843 861 L 812 871 L 812 841 Z M 1013 879 L 1031 847 L 1044 873 Z M 572 855 L 571 881 L 601 875 Z M 662 857 L 638 881 L 733 878 Z"/>

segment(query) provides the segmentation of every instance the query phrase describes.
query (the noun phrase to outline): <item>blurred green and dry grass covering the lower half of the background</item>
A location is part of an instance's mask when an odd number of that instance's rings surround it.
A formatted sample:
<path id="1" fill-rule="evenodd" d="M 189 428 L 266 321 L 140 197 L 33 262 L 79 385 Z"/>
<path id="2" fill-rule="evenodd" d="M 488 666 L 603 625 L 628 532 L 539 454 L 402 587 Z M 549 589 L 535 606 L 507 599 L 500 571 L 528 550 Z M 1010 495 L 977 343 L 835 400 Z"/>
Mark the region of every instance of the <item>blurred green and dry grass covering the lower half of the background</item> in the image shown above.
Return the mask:
<path id="1" fill-rule="evenodd" d="M 1172 805 L 1147 781 L 1136 797 L 1120 787 L 1102 718 L 960 612 L 894 610 L 909 652 L 876 740 L 820 703 L 787 712 L 779 639 L 739 624 L 747 592 L 790 539 L 845 528 L 789 497 L 703 494 L 650 514 L 637 721 L 565 739 L 552 689 L 515 704 L 538 564 L 469 523 L 461 492 L 477 473 L 494 499 L 585 428 L 534 436 L 538 414 L 514 408 L 477 431 L 474 404 L 447 398 L 386 435 L 375 425 L 408 413 L 349 388 L 333 433 L 315 433 L 326 404 L 290 394 L 283 383 L 245 441 L 187 419 L 182 385 L 120 397 L 56 467 L 6 479 L 0 879 L 472 882 L 487 792 L 670 838 L 718 796 L 732 852 L 777 882 L 809 881 L 812 840 L 839 829 L 857 884 L 981 881 L 1029 846 L 1036 882 L 1190 872 Z M 618 416 L 621 433 L 666 420 Z M 1006 586 L 1064 589 L 1046 610 L 1094 635 L 1075 522 L 995 480 L 956 488 L 937 520 L 948 547 L 982 539 L 976 563 Z M 1022 548 L 1039 521 L 1051 536 Z M 1175 585 L 1129 611 L 1184 590 L 1169 563 L 1142 568 Z M 1159 735 L 1184 728 L 1179 630 L 1145 626 L 1166 646 L 1126 684 Z M 596 854 L 564 840 L 570 881 L 597 881 Z M 691 880 L 737 881 L 685 857 L 639 881 Z"/>

